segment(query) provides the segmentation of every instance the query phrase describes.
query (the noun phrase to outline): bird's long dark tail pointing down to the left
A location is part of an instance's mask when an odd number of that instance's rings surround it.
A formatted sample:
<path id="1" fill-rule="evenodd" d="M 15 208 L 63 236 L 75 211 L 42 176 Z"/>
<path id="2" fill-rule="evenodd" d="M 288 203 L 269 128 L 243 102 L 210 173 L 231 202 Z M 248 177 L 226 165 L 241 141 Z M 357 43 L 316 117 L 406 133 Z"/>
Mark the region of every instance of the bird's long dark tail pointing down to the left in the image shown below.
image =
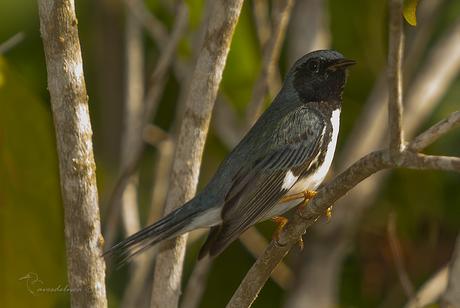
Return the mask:
<path id="1" fill-rule="evenodd" d="M 120 257 L 120 265 L 153 245 L 194 229 L 193 220 L 202 212 L 196 199 L 169 213 L 156 223 L 134 233 L 104 252 L 103 256 Z"/>

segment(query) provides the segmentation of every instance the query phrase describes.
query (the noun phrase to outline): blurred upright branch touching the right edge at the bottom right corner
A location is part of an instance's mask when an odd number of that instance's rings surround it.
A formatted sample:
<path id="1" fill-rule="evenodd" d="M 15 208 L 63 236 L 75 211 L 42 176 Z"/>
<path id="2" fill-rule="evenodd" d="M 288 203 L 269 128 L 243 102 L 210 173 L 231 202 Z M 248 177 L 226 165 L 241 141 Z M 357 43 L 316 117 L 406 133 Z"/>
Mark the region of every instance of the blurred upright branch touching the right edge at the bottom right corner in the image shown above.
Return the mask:
<path id="1" fill-rule="evenodd" d="M 449 280 L 442 295 L 441 307 L 453 308 L 460 306 L 460 236 L 457 236 L 454 253 L 449 265 Z"/>

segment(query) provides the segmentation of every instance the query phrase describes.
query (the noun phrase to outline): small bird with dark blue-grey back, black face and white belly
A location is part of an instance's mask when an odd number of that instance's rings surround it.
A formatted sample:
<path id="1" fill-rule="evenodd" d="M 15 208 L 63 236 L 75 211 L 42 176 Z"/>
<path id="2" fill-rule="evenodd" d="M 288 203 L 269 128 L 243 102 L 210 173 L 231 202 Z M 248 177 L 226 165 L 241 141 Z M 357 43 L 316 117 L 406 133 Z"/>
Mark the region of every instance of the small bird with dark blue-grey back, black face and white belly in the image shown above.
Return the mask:
<path id="1" fill-rule="evenodd" d="M 348 68 L 335 50 L 298 59 L 279 93 L 218 167 L 182 207 L 117 243 L 104 255 L 129 260 L 167 239 L 210 228 L 198 259 L 219 255 L 254 224 L 273 219 L 315 195 L 332 164 Z M 303 204 L 305 204 L 305 202 Z"/>

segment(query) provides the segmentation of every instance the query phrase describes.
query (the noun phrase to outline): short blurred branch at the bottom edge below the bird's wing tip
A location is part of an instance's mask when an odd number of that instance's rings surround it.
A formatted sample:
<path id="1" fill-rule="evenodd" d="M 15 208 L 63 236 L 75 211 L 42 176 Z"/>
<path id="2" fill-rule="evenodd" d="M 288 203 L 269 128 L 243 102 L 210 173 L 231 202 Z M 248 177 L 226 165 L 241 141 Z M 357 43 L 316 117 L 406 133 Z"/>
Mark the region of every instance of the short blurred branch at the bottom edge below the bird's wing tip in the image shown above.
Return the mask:
<path id="1" fill-rule="evenodd" d="M 204 258 L 195 264 L 184 292 L 181 308 L 197 308 L 200 306 L 211 266 L 211 258 Z"/>

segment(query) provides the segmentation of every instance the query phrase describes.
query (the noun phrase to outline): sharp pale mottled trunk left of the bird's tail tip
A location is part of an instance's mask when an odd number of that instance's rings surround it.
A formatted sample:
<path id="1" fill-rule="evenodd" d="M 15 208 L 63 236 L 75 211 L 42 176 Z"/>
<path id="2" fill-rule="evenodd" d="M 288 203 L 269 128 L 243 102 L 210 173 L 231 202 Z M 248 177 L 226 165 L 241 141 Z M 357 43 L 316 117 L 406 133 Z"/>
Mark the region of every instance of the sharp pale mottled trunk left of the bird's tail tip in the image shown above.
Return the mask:
<path id="1" fill-rule="evenodd" d="M 106 307 L 96 165 L 75 5 L 39 0 L 64 205 L 72 307 Z"/>

